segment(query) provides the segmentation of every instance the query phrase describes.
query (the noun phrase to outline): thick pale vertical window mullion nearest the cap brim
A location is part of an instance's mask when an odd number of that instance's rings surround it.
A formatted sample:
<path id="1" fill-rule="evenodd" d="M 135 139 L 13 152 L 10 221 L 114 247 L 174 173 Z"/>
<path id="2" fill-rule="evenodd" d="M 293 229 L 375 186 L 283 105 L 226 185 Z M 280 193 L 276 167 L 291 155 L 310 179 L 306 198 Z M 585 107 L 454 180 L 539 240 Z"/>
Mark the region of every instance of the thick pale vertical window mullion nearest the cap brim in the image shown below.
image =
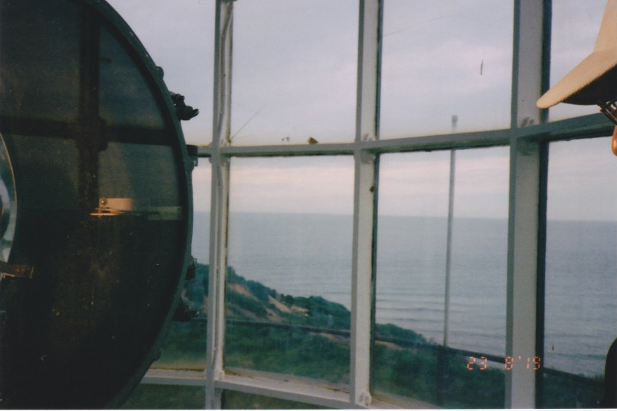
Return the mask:
<path id="1" fill-rule="evenodd" d="M 516 0 L 514 10 L 511 127 L 540 123 L 536 100 L 542 89 L 543 2 Z M 506 355 L 516 361 L 535 357 L 538 310 L 538 232 L 541 145 L 516 137 L 510 141 L 510 194 L 507 270 Z M 506 408 L 535 408 L 536 373 L 513 366 L 506 372 Z"/>

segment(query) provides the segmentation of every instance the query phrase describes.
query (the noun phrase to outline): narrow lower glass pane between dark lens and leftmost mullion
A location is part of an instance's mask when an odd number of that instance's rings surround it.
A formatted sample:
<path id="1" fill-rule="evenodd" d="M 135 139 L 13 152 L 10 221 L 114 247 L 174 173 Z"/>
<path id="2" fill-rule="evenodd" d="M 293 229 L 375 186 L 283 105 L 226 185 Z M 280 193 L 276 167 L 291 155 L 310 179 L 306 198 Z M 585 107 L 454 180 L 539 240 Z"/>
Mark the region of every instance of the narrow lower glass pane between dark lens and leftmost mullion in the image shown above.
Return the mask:
<path id="1" fill-rule="evenodd" d="M 161 357 L 152 368 L 199 371 L 206 368 L 210 175 L 210 162 L 200 159 L 199 166 L 193 170 L 192 255 L 197 260 L 195 276 L 184 282 L 182 305 L 175 317 L 177 321 L 171 324 L 161 346 Z M 192 315 L 195 317 L 190 318 Z"/>

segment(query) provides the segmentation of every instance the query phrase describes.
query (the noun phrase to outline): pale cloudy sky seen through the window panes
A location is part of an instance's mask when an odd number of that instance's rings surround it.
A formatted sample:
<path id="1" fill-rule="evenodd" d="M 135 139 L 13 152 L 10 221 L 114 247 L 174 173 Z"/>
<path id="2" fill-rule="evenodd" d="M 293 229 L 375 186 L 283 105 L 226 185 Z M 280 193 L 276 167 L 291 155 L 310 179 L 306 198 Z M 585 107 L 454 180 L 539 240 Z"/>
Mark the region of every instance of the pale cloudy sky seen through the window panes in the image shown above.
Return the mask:
<path id="1" fill-rule="evenodd" d="M 186 141 L 212 139 L 213 0 L 110 0 L 170 90 L 199 108 Z M 386 0 L 380 138 L 507 128 L 511 0 Z M 604 0 L 555 0 L 551 83 L 593 48 Z M 355 128 L 357 0 L 234 3 L 233 145 L 351 142 Z M 560 105 L 551 119 L 596 112 Z M 551 147 L 549 218 L 615 220 L 617 161 L 606 141 Z M 508 150 L 457 153 L 455 216 L 507 217 Z M 382 214 L 445 215 L 449 152 L 384 154 Z M 353 159 L 233 159 L 231 210 L 350 214 Z M 193 174 L 208 210 L 207 159 Z M 581 201 L 584 199 L 585 201 Z M 575 206 L 575 204 L 581 205 Z M 444 211 L 445 210 L 445 211 Z"/>

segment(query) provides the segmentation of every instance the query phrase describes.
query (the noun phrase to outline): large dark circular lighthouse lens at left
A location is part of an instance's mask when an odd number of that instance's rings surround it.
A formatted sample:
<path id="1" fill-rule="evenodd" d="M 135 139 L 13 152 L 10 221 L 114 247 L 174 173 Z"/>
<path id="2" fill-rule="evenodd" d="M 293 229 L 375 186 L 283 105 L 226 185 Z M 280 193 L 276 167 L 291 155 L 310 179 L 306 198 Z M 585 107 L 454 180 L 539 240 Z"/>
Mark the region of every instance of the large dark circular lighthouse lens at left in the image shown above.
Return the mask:
<path id="1" fill-rule="evenodd" d="M 192 213 L 157 72 L 104 1 L 0 0 L 3 407 L 115 406 L 155 358 Z"/>

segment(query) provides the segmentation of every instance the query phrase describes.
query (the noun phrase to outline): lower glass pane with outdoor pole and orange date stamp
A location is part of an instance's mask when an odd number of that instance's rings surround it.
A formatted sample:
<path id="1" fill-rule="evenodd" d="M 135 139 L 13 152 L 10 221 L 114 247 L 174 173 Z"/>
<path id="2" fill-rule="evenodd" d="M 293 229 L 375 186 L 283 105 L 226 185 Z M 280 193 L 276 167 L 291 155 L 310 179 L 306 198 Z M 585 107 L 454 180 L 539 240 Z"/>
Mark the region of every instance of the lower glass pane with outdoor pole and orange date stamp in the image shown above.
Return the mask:
<path id="1" fill-rule="evenodd" d="M 382 157 L 376 397 L 406 408 L 504 405 L 508 166 L 507 148 L 456 152 L 448 272 L 450 152 Z"/>

